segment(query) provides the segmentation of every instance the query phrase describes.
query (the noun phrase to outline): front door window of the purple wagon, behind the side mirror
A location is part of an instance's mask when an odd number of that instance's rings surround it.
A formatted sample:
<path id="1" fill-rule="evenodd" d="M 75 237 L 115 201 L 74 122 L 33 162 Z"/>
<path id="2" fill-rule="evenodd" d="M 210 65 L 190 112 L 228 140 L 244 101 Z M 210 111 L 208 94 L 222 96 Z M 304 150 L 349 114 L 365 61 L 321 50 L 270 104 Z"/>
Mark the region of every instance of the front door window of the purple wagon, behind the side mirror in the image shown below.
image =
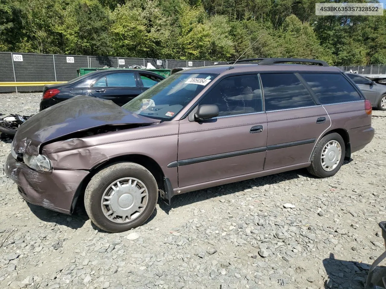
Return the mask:
<path id="1" fill-rule="evenodd" d="M 261 90 L 257 74 L 222 79 L 204 96 L 200 104 L 216 104 L 218 116 L 261 112 Z"/>

